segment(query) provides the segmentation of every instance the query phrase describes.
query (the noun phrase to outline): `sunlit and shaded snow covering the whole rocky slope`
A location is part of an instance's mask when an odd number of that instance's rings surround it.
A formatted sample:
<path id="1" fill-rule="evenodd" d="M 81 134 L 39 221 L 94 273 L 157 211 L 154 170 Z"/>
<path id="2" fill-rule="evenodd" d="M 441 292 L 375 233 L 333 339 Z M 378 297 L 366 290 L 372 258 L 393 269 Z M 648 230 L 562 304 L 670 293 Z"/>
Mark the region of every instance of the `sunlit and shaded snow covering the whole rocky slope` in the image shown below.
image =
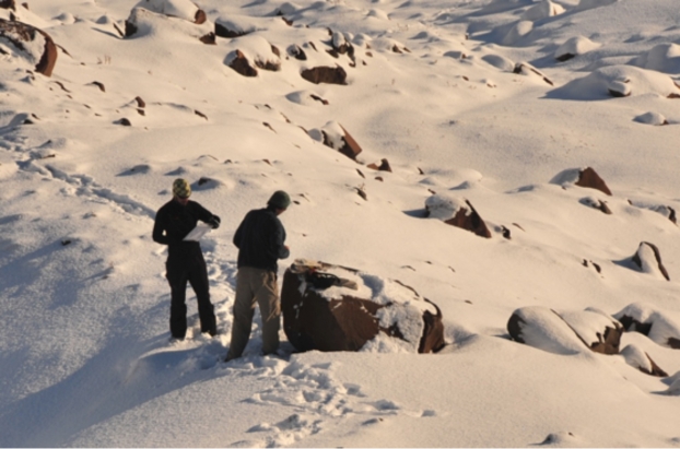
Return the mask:
<path id="1" fill-rule="evenodd" d="M 60 50 L 51 78 L 0 58 L 0 446 L 680 445 L 677 0 L 28 5 L 15 15 Z M 251 33 L 199 40 L 220 22 Z M 352 57 L 327 51 L 343 43 Z M 281 68 L 242 76 L 236 50 Z M 318 66 L 348 84 L 302 79 Z M 391 173 L 366 166 L 383 158 Z M 575 186 L 585 167 L 613 196 Z M 171 343 L 151 231 L 177 177 L 222 218 L 201 238 L 220 333 L 200 334 L 189 290 Z M 293 200 L 280 280 L 295 259 L 354 268 L 360 293 L 398 303 L 386 327 L 420 323 L 427 298 L 444 350 L 415 354 L 417 326 L 356 353 L 294 353 L 282 331 L 261 356 L 256 315 L 244 357 L 222 362 L 233 234 L 275 190 Z M 491 238 L 441 223 L 466 200 Z M 647 247 L 632 262 L 643 241 L 670 281 Z M 621 354 L 574 332 L 624 315 L 652 327 Z M 646 355 L 671 376 L 642 373 Z"/>

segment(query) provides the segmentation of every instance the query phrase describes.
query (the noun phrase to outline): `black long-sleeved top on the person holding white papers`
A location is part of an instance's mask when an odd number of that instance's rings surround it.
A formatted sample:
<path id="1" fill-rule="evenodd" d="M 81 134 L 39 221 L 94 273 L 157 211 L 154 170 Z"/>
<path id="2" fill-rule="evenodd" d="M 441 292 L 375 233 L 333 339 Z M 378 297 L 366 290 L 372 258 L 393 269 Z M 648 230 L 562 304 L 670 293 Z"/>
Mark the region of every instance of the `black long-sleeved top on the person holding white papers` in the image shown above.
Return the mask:
<path id="1" fill-rule="evenodd" d="M 188 256 L 197 250 L 200 252 L 201 247 L 198 241 L 184 241 L 183 239 L 196 227 L 199 220 L 207 223 L 213 216 L 215 215 L 196 201 L 189 200 L 187 205 L 183 205 L 172 199 L 156 212 L 153 241 L 167 245 L 168 259 Z"/>

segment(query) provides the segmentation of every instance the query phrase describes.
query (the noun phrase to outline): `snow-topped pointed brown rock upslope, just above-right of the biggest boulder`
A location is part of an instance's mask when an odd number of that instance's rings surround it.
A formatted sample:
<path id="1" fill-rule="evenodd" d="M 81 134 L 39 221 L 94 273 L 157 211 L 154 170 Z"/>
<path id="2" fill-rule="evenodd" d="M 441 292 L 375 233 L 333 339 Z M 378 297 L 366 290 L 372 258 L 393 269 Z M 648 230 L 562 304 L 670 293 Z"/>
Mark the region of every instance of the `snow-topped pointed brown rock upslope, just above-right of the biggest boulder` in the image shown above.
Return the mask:
<path id="1" fill-rule="evenodd" d="M 491 238 L 486 223 L 470 201 L 449 194 L 435 193 L 425 200 L 425 216 L 437 218 L 480 237 Z"/>

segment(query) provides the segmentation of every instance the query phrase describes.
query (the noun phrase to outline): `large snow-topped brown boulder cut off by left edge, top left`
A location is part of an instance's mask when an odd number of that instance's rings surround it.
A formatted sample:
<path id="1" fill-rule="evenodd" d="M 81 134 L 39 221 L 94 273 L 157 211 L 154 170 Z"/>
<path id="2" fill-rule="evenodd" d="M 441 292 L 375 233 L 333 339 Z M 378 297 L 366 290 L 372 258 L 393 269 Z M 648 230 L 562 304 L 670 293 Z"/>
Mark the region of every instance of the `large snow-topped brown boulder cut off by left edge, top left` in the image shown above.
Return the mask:
<path id="1" fill-rule="evenodd" d="M 35 63 L 36 72 L 51 76 L 57 63 L 57 46 L 47 33 L 22 22 L 0 19 L 0 44 L 2 42 L 10 43 L 23 59 Z"/>

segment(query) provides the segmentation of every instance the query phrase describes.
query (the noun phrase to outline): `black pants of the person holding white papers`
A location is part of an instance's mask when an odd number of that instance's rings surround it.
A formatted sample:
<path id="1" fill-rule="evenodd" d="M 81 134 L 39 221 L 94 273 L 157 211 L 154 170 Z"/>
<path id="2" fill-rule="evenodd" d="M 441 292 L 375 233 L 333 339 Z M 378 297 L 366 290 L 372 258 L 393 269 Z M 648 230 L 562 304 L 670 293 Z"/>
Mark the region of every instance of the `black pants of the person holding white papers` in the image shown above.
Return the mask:
<path id="1" fill-rule="evenodd" d="M 184 339 L 187 333 L 187 282 L 196 293 L 198 300 L 198 316 L 201 321 L 201 332 L 211 335 L 218 333 L 215 314 L 208 286 L 208 269 L 200 252 L 183 257 L 171 257 L 165 263 L 166 277 L 171 286 L 171 334 L 176 339 Z"/>

